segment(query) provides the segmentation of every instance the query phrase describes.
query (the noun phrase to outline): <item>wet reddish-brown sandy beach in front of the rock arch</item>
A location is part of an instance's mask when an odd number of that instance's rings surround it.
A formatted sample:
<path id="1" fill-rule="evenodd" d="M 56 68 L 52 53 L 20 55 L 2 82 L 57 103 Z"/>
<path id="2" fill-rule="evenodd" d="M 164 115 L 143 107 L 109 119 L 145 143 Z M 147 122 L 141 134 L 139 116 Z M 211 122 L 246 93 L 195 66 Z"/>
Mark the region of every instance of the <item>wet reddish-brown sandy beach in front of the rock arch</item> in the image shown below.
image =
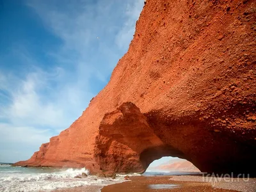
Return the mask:
<path id="1" fill-rule="evenodd" d="M 256 179 L 250 178 L 248 182 L 242 179 L 234 179 L 227 182 L 223 179 L 218 180 L 212 186 L 211 182 L 207 182 L 200 175 L 168 175 L 168 176 L 135 176 L 130 180 L 112 184 L 109 186 L 83 186 L 71 189 L 59 189 L 58 192 L 77 192 L 77 191 L 102 191 L 102 192 L 119 192 L 119 191 L 256 191 Z"/>

